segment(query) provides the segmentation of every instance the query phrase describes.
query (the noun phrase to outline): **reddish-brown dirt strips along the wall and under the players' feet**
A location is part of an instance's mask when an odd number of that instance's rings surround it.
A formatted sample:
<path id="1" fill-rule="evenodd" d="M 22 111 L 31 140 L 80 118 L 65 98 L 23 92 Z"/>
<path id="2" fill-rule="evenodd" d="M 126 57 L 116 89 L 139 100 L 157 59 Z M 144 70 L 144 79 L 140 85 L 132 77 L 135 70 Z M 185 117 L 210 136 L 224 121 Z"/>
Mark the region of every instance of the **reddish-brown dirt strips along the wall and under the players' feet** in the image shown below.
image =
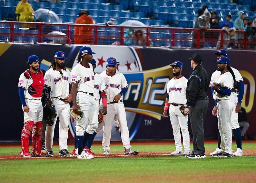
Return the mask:
<path id="1" fill-rule="evenodd" d="M 254 140 L 244 140 L 243 143 L 256 143 Z M 217 140 L 205 140 L 205 143 L 218 143 Z M 235 143 L 235 142 L 232 142 Z M 72 146 L 74 142 L 68 142 L 68 145 Z M 175 144 L 174 141 L 133 141 L 132 145 L 157 145 L 157 144 Z M 55 146 L 58 146 L 57 142 L 54 142 Z M 94 142 L 94 145 L 101 145 L 101 142 Z M 111 145 L 122 145 L 122 142 L 111 142 Z M 0 147 L 19 147 L 19 143 L 0 143 Z M 139 152 L 138 155 L 124 155 L 123 153 L 111 153 L 110 156 L 103 156 L 102 153 L 95 154 L 94 158 L 120 158 L 120 157 L 152 157 L 152 156 L 170 156 L 172 151 L 166 152 Z M 205 155 L 210 155 L 212 151 L 205 151 Z M 256 155 L 256 150 L 243 150 L 243 155 Z M 54 157 L 32 157 L 32 158 L 47 158 L 47 159 L 57 159 L 57 158 L 76 158 L 76 157 L 59 157 L 54 155 Z M 20 160 L 20 159 L 31 159 L 24 158 L 20 156 L 0 156 L 0 160 Z"/>

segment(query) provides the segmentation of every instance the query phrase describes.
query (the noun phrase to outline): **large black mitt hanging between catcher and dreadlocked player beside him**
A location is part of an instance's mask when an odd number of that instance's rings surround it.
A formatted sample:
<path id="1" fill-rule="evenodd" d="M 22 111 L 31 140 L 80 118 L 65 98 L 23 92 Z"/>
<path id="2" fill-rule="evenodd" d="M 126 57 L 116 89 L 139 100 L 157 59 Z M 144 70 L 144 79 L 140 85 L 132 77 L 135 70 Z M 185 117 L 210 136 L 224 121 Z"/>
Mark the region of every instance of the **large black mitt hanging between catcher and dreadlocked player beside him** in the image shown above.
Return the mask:
<path id="1" fill-rule="evenodd" d="M 54 105 L 50 103 L 45 104 L 43 108 L 43 122 L 48 126 L 52 126 L 56 116 L 57 113 Z"/>

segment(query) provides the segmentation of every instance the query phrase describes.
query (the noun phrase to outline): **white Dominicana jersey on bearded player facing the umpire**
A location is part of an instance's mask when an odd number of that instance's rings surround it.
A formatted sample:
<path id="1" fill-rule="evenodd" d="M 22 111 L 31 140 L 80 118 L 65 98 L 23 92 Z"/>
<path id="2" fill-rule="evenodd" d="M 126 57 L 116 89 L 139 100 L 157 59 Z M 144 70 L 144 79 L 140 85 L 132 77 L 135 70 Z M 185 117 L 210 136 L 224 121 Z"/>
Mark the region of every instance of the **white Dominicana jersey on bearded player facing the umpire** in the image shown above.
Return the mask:
<path id="1" fill-rule="evenodd" d="M 167 83 L 167 94 L 169 94 L 169 104 L 186 104 L 186 88 L 188 79 L 184 76 L 175 79 L 172 78 Z"/>

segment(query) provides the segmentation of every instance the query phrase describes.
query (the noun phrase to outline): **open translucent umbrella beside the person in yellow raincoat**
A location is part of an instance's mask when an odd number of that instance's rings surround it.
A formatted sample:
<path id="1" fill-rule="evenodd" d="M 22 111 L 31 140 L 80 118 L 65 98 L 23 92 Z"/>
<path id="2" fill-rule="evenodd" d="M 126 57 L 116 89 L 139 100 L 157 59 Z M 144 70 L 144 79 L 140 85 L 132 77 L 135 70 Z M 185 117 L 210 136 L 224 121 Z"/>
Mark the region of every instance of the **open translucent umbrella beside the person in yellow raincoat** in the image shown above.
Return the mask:
<path id="1" fill-rule="evenodd" d="M 58 15 L 56 15 L 53 11 L 39 8 L 38 10 L 34 11 L 32 13 L 34 15 L 35 19 L 39 22 L 55 22 L 55 23 L 61 23 L 60 18 Z"/>

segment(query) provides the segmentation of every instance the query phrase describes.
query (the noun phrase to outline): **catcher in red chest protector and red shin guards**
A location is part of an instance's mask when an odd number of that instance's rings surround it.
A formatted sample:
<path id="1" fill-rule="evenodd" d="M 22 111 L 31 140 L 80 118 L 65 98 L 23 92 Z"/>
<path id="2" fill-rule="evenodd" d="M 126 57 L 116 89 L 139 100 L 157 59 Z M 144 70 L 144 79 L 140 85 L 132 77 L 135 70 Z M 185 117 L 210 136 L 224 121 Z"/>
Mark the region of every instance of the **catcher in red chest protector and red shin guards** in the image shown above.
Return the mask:
<path id="1" fill-rule="evenodd" d="M 24 112 L 24 127 L 21 131 L 21 157 L 44 157 L 41 152 L 41 140 L 43 131 L 43 106 L 41 102 L 44 87 L 43 72 L 39 70 L 39 59 L 36 55 L 28 57 L 26 62 L 29 69 L 23 72 L 19 78 L 19 96 Z M 33 131 L 33 132 L 32 132 Z M 32 133 L 31 133 L 32 132 Z M 32 137 L 33 150 L 29 152 L 29 136 Z"/>

